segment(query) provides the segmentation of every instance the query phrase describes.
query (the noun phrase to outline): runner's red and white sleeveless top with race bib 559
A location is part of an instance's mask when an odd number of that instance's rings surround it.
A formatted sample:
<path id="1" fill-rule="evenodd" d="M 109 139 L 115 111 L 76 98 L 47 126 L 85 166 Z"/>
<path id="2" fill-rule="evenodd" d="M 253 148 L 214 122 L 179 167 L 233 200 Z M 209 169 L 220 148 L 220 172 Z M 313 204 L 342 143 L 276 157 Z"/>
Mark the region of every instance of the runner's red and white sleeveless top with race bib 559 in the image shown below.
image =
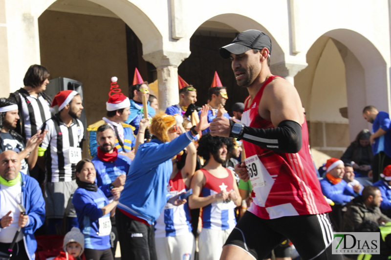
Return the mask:
<path id="1" fill-rule="evenodd" d="M 271 76 L 263 83 L 250 105 L 250 97 L 245 100 L 241 122 L 246 126 L 274 128 L 272 122 L 261 118 L 258 106 L 265 86 L 275 77 L 278 76 Z M 295 154 L 274 152 L 243 140 L 246 167 L 253 186 L 254 203 L 248 209 L 251 213 L 262 219 L 276 219 L 331 211 L 312 162 L 305 120 L 302 139 L 302 148 Z"/>

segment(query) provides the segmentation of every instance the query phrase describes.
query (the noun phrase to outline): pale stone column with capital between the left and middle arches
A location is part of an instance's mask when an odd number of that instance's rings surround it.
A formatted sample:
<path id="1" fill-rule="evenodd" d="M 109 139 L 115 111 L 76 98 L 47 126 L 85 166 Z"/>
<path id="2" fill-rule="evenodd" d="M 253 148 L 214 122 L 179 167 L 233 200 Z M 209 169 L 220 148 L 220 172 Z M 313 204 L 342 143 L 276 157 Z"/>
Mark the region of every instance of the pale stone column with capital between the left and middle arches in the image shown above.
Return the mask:
<path id="1" fill-rule="evenodd" d="M 144 60 L 151 62 L 157 69 L 159 108 L 167 107 L 179 102 L 178 94 L 178 66 L 190 56 L 190 51 L 164 51 L 143 55 Z"/>

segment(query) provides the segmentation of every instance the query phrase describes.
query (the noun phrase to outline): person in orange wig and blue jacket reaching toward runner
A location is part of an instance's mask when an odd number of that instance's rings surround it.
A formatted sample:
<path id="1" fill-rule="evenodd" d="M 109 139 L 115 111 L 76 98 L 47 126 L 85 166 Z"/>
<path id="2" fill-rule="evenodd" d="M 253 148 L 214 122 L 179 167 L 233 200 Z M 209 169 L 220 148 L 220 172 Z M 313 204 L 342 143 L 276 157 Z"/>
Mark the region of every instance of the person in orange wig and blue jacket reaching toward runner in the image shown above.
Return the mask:
<path id="1" fill-rule="evenodd" d="M 167 202 L 179 206 L 187 201 L 167 191 L 172 159 L 207 126 L 207 113 L 204 105 L 199 123 L 183 134 L 173 116 L 158 113 L 153 117 L 152 140 L 138 146 L 115 212 L 123 259 L 157 259 L 153 223 Z"/>

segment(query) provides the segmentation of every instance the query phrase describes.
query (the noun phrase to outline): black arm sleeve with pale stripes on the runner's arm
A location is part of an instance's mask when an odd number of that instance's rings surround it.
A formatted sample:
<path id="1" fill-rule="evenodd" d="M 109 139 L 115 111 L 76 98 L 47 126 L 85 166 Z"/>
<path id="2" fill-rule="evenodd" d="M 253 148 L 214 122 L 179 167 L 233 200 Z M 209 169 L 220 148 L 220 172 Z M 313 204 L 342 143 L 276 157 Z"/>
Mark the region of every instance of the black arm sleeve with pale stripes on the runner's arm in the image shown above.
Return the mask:
<path id="1" fill-rule="evenodd" d="M 283 120 L 278 127 L 269 129 L 245 126 L 240 139 L 275 152 L 290 154 L 299 152 L 303 144 L 302 127 L 292 120 Z"/>

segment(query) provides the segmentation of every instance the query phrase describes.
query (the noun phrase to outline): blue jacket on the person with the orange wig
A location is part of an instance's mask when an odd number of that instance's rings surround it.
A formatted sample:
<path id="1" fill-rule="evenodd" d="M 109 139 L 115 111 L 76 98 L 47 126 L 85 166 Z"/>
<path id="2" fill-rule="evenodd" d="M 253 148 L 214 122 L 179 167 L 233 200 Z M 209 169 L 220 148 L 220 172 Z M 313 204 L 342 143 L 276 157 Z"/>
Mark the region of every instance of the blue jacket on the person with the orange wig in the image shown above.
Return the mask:
<path id="1" fill-rule="evenodd" d="M 173 172 L 171 159 L 193 140 L 189 131 L 170 142 L 153 139 L 140 144 L 117 207 L 152 225 L 168 200 L 167 185 Z"/>

